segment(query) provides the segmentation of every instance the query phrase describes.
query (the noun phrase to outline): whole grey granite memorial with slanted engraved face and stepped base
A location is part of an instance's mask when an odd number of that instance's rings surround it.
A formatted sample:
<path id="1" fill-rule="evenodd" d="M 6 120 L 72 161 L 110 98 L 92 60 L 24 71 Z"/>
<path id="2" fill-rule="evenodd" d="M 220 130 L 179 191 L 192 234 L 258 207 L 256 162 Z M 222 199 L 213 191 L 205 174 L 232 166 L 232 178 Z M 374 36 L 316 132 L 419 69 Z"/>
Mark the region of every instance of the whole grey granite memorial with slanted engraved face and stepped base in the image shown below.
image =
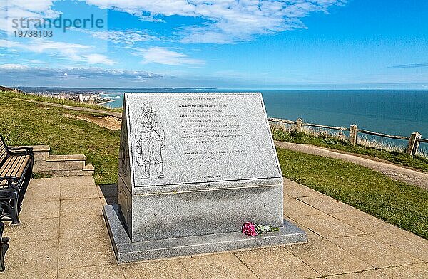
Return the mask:
<path id="1" fill-rule="evenodd" d="M 118 263 L 305 242 L 282 188 L 260 93 L 125 93 L 104 208 Z M 280 230 L 245 236 L 245 221 Z"/>

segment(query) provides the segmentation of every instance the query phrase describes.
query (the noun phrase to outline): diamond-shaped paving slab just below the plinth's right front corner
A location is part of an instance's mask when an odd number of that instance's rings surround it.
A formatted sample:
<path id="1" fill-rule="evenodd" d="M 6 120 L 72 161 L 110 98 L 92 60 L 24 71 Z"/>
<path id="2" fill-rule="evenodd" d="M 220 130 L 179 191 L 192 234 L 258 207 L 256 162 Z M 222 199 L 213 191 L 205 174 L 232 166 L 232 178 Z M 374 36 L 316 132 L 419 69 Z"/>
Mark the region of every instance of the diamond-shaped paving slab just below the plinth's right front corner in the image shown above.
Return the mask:
<path id="1" fill-rule="evenodd" d="M 325 239 L 290 246 L 287 250 L 322 276 L 373 269 L 372 265 Z"/>

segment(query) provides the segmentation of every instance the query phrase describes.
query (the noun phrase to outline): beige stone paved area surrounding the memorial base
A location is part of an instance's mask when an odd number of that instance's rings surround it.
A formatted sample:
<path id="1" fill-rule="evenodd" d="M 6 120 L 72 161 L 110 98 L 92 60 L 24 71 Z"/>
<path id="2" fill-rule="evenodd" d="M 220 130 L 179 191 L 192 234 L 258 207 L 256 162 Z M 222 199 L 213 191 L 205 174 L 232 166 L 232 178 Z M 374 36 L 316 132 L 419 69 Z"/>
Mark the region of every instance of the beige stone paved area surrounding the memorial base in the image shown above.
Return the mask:
<path id="1" fill-rule="evenodd" d="M 0 278 L 428 278 L 428 241 L 287 180 L 285 216 L 309 243 L 118 265 L 101 213 L 115 194 L 93 177 L 31 181 Z"/>

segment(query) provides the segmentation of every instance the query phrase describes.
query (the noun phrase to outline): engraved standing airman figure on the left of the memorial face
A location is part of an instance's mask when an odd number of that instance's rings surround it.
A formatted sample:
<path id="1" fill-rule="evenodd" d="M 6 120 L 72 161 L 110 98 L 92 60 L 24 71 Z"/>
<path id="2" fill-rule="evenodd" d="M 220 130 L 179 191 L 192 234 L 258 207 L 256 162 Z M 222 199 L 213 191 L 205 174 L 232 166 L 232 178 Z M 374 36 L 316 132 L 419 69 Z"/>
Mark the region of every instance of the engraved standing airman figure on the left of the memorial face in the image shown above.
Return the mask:
<path id="1" fill-rule="evenodd" d="M 165 147 L 165 132 L 150 102 L 144 102 L 141 110 L 143 113 L 136 122 L 137 164 L 143 167 L 141 179 L 150 177 L 152 159 L 158 178 L 163 178 L 162 149 Z"/>

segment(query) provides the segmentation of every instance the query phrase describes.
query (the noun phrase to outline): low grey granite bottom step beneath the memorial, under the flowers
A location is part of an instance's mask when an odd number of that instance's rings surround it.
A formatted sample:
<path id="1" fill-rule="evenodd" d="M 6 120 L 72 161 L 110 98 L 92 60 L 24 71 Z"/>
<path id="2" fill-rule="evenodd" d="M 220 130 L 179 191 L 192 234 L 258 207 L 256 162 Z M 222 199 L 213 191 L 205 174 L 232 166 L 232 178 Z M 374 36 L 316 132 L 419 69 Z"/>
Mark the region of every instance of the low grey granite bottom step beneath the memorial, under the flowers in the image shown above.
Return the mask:
<path id="1" fill-rule="evenodd" d="M 245 236 L 240 231 L 215 233 L 203 236 L 168 238 L 156 241 L 131 242 L 118 215 L 118 207 L 108 205 L 103 210 L 108 233 L 118 263 L 128 263 L 156 258 L 190 256 L 201 253 L 233 251 L 264 246 L 277 246 L 307 241 L 307 233 L 288 221 L 280 231 L 260 236 Z M 155 232 L 153 232 L 155 233 Z"/>

